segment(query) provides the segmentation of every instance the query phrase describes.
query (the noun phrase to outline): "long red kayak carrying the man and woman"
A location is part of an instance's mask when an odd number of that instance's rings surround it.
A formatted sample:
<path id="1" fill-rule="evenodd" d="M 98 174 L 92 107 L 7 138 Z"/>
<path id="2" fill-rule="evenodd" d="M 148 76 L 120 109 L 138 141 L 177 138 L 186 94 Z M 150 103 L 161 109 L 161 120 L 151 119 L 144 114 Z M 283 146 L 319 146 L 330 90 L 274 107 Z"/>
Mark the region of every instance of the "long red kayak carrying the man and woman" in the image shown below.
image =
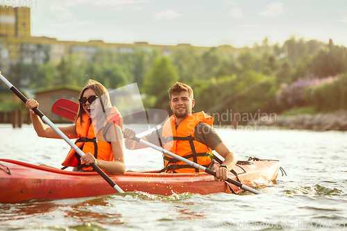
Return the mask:
<path id="1" fill-rule="evenodd" d="M 276 180 L 280 169 L 277 160 L 238 162 L 234 170 L 248 187 L 267 185 Z M 106 172 L 125 192 L 148 194 L 231 194 L 242 191 L 235 185 L 214 181 L 208 173 L 157 173 L 127 171 L 124 175 Z M 229 178 L 237 180 L 229 173 Z M 238 180 L 237 180 L 238 181 Z M 16 160 L 0 159 L 0 203 L 31 199 L 83 198 L 115 194 L 116 191 L 98 173 L 50 169 Z"/>

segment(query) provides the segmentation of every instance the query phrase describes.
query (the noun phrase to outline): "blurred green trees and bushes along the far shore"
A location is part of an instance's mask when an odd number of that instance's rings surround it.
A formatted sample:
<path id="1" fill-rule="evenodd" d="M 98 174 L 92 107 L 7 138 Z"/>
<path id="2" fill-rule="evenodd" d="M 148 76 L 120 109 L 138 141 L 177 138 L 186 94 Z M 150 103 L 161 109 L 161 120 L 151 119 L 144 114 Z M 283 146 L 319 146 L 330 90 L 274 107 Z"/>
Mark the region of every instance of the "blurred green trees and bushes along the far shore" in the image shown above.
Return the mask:
<path id="1" fill-rule="evenodd" d="M 6 77 L 32 92 L 56 85 L 81 87 L 90 78 L 108 89 L 137 83 L 145 109 L 169 113 L 168 89 L 178 81 L 194 89 L 194 111 L 212 114 L 214 124 L 237 128 L 266 116 L 266 126 L 345 130 L 346 116 L 339 111 L 347 110 L 346 63 L 346 46 L 293 35 L 283 44 L 271 44 L 266 37 L 253 47 L 223 44 L 203 52 L 194 46 L 170 53 L 98 49 L 60 62 L 49 57 L 43 64 L 21 61 L 10 65 Z M 0 112 L 19 109 L 20 104 L 2 94 L 4 87 L 0 83 Z M 278 117 L 270 119 L 273 114 Z"/>

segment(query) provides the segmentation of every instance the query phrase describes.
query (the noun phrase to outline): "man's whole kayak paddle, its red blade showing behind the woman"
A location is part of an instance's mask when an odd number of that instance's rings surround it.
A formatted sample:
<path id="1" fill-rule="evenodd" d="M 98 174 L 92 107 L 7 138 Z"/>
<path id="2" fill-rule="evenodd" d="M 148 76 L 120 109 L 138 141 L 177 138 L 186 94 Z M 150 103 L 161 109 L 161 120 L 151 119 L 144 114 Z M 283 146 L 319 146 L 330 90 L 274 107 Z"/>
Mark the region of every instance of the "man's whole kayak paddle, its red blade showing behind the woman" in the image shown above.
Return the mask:
<path id="1" fill-rule="evenodd" d="M 58 101 L 60 101 L 60 102 L 58 104 L 56 104 Z M 74 120 L 72 120 L 73 118 L 71 117 L 71 111 L 74 110 L 74 107 L 76 107 L 76 105 L 78 105 L 78 103 L 76 103 L 74 101 L 70 101 L 69 99 L 60 99 L 58 101 L 53 104 L 52 112 L 55 114 L 58 114 L 60 117 L 64 117 L 65 119 L 70 119 L 71 121 L 74 121 Z M 56 110 L 55 107 L 58 107 L 58 105 L 60 105 L 60 103 L 65 103 L 65 102 L 66 102 L 66 104 L 64 106 L 61 105 L 61 107 L 66 108 L 65 110 Z M 73 104 L 76 104 L 76 105 L 73 105 Z M 76 114 L 77 114 L 77 110 L 75 111 Z M 135 142 L 139 142 L 139 143 L 142 143 L 146 146 L 149 146 L 149 147 L 151 147 L 157 151 L 165 153 L 165 154 L 175 158 L 176 160 L 180 160 L 182 162 L 185 162 L 186 164 L 189 164 L 189 166 L 193 166 L 196 169 L 201 169 L 202 171 L 205 171 L 205 173 L 209 173 L 212 176 L 216 176 L 215 171 L 212 171 L 211 169 L 205 168 L 204 166 L 201 166 L 201 165 L 196 164 L 190 160 L 187 160 L 183 157 L 180 157 L 179 155 L 171 153 L 171 152 L 165 150 L 164 148 L 156 146 L 155 144 L 151 144 L 149 142 L 146 142 L 143 139 L 139 139 L 138 137 L 133 137 L 133 140 L 135 140 Z M 232 185 L 236 185 L 237 187 L 240 187 L 241 189 L 244 189 L 246 191 L 251 191 L 253 194 L 262 194 L 260 191 L 252 189 L 251 187 L 248 187 L 246 185 L 243 185 L 242 183 L 237 182 L 236 180 L 232 180 L 232 179 L 228 178 L 228 180 L 226 180 L 226 181 L 231 183 Z"/>

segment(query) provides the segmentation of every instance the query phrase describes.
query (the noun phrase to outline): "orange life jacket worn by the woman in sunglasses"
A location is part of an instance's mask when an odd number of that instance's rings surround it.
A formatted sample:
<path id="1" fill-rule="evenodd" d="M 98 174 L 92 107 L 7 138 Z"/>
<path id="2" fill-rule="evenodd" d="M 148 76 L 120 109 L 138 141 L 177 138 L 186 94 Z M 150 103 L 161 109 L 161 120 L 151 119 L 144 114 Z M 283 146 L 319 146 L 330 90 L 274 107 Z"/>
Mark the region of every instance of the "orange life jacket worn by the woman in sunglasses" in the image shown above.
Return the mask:
<path id="1" fill-rule="evenodd" d="M 115 160 L 111 143 L 105 141 L 105 132 L 107 132 L 108 128 L 114 123 L 122 129 L 123 119 L 121 118 L 121 114 L 116 108 L 111 108 L 110 114 L 105 120 L 104 128 L 95 135 L 92 120 L 86 113 L 83 113 L 82 123 L 79 117 L 76 120 L 76 132 L 78 135 L 78 139 L 75 142 L 76 146 L 78 146 L 83 153 L 92 153 L 97 160 Z M 83 168 L 85 171 L 92 171 L 92 167 L 87 167 L 85 164 L 81 163 L 80 158 L 81 156 L 76 153 L 74 148 L 71 148 L 65 161 L 62 162 L 62 166 L 74 166 L 78 169 Z"/>

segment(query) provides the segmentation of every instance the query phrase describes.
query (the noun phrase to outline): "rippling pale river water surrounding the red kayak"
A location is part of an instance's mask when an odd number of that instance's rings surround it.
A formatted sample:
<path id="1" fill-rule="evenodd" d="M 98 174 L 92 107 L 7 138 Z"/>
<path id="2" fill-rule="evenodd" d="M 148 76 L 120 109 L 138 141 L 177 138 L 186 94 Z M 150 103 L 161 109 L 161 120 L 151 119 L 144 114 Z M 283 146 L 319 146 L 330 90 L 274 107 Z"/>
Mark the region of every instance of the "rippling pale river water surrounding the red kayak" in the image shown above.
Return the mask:
<path id="1" fill-rule="evenodd" d="M 137 193 L 0 203 L 0 230 L 330 230 L 347 229 L 347 133 L 307 130 L 217 132 L 239 160 L 281 160 L 287 176 L 261 195 Z M 69 146 L 32 126 L 0 125 L 0 158 L 60 167 Z M 126 151 L 127 169 L 162 167 L 162 155 Z M 1 192 L 0 192 L 1 194 Z"/>

